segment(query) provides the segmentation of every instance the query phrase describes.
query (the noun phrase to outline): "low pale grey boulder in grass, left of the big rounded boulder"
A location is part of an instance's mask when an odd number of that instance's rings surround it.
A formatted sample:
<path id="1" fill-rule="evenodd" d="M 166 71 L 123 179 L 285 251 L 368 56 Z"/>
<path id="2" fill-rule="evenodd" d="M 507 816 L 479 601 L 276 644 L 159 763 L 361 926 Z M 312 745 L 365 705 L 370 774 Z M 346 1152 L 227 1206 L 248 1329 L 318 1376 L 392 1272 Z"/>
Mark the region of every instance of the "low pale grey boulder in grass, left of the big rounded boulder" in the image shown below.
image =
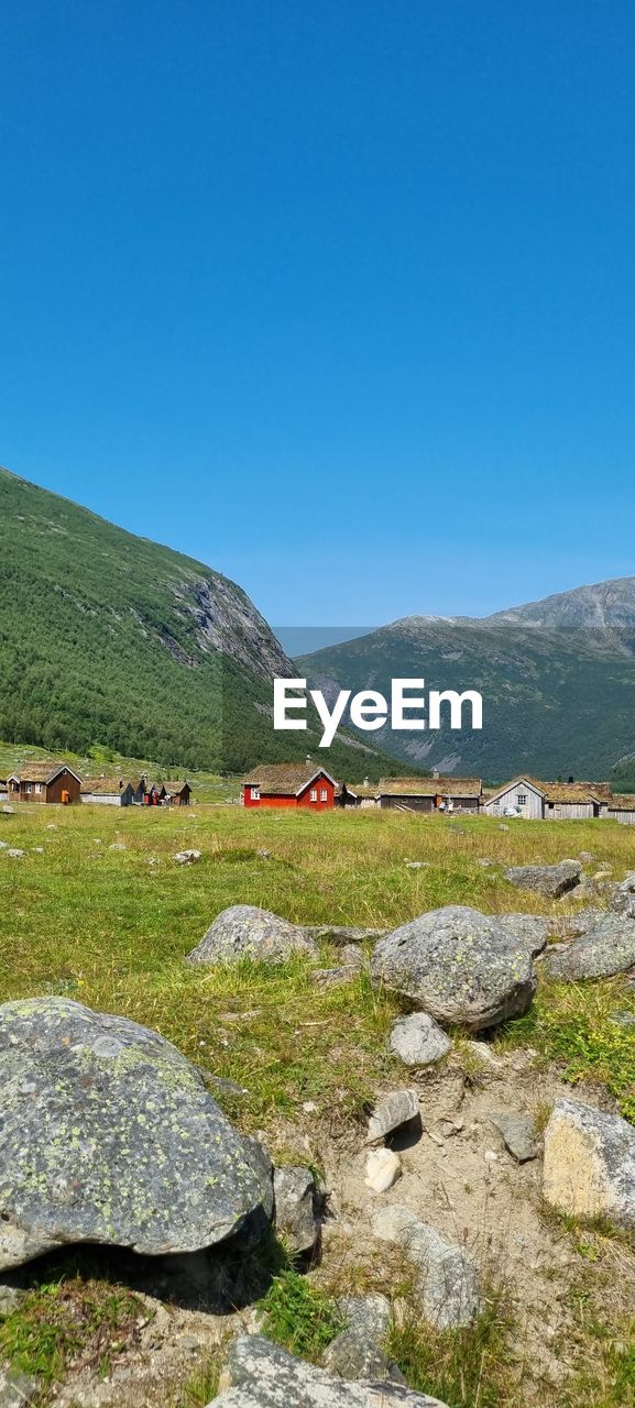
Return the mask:
<path id="1" fill-rule="evenodd" d="M 293 953 L 317 957 L 314 941 L 300 925 L 253 904 L 232 904 L 217 914 L 200 943 L 187 955 L 187 963 L 231 963 L 242 957 L 282 963 Z"/>

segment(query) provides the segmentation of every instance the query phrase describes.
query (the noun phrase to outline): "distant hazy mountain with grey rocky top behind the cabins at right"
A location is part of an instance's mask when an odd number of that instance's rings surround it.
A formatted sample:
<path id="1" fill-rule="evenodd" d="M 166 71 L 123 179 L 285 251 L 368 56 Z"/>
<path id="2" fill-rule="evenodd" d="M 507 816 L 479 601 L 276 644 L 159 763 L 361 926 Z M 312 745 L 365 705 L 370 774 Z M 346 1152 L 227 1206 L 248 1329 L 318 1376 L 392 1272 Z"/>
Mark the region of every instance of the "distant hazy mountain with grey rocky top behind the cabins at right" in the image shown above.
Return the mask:
<path id="1" fill-rule="evenodd" d="M 420 767 L 490 780 L 524 770 L 601 779 L 622 760 L 615 779 L 622 787 L 632 780 L 634 579 L 486 620 L 408 617 L 296 663 L 325 694 L 367 687 L 390 697 L 393 677 L 425 679 L 427 690 L 479 690 L 482 732 L 373 735 Z"/>

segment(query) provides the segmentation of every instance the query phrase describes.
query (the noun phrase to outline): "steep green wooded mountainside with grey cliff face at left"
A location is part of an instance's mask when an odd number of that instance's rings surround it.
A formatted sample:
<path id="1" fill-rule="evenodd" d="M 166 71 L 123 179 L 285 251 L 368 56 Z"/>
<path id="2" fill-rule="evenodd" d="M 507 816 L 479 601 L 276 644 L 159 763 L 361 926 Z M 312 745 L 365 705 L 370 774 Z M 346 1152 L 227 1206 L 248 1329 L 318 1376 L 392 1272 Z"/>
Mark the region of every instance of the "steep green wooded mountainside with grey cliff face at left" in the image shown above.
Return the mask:
<path id="1" fill-rule="evenodd" d="M 298 759 L 317 729 L 270 719 L 290 673 L 227 577 L 0 470 L 0 738 L 184 769 Z M 327 766 L 376 777 L 386 760 L 342 739 Z"/>

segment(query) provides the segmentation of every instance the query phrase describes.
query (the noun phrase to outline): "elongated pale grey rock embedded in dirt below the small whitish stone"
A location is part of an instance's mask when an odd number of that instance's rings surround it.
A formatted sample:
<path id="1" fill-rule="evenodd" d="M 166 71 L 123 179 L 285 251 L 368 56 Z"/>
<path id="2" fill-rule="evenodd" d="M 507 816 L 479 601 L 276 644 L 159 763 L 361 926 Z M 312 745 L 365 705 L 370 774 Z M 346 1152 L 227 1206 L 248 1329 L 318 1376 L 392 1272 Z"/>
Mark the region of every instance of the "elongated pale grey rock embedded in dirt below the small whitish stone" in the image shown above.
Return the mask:
<path id="1" fill-rule="evenodd" d="M 372 1228 L 382 1242 L 404 1247 L 417 1269 L 421 1304 L 431 1325 L 456 1329 L 472 1324 L 480 1309 L 479 1273 L 460 1246 L 446 1242 L 397 1202 L 376 1212 Z"/>

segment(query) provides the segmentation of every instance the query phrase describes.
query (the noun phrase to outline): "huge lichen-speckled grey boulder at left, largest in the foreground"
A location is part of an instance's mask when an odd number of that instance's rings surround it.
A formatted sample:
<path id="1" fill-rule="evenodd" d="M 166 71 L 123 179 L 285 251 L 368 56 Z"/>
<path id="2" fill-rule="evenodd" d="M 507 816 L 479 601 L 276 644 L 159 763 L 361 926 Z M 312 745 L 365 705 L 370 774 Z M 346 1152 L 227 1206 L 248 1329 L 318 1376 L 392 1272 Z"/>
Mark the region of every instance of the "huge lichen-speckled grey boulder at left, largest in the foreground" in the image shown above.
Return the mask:
<path id="1" fill-rule="evenodd" d="M 269 1156 L 163 1036 L 69 998 L 0 1007 L 0 1270 L 72 1242 L 194 1252 L 272 1212 Z"/>

